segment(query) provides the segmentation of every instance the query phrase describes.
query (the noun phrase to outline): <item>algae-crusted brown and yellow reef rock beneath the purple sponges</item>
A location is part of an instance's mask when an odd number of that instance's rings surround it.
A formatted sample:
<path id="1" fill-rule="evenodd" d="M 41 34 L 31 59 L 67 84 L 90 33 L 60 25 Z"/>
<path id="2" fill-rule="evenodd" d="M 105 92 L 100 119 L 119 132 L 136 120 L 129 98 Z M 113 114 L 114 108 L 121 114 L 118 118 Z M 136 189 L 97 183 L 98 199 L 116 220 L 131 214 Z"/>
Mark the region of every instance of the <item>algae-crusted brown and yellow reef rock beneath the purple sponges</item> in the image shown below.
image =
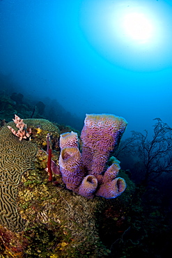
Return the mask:
<path id="1" fill-rule="evenodd" d="M 100 238 L 100 222 L 107 219 L 105 211 L 113 206 L 114 224 L 120 223 L 118 230 L 125 227 L 126 219 L 121 218 L 126 216 L 126 207 L 132 202 L 134 185 L 123 173 L 121 176 L 129 185 L 123 197 L 86 199 L 67 190 L 61 176 L 56 176 L 58 186 L 48 182 L 44 158 L 44 152 L 38 153 L 35 169 L 22 174 L 17 204 L 19 215 L 26 221 L 25 227 L 17 233 L 0 227 L 1 255 L 8 258 L 108 257 L 109 249 Z"/>

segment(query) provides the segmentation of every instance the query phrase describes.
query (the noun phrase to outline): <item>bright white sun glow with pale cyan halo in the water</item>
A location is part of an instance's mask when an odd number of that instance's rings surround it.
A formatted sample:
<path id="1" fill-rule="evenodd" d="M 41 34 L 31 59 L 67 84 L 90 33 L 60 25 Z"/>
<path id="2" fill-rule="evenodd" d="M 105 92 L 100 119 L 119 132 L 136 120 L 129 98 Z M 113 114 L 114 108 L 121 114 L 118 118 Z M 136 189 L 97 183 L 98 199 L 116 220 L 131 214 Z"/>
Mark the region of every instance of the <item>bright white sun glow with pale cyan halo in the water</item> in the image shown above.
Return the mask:
<path id="1" fill-rule="evenodd" d="M 171 64 L 170 10 L 154 0 L 84 1 L 81 29 L 110 63 L 127 70 L 159 70 Z"/>

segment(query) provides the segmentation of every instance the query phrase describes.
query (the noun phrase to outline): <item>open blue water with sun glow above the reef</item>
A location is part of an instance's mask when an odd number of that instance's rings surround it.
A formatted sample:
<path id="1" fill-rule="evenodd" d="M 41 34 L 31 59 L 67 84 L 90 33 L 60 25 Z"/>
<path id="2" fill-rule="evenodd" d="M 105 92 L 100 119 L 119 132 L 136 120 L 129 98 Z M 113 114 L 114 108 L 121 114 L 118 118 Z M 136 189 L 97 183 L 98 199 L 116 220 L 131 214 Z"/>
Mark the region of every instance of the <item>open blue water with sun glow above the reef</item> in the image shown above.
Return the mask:
<path id="1" fill-rule="evenodd" d="M 83 122 L 123 116 L 126 137 L 157 117 L 172 126 L 171 1 L 2 0 L 0 20 L 0 73 L 15 91 Z"/>

